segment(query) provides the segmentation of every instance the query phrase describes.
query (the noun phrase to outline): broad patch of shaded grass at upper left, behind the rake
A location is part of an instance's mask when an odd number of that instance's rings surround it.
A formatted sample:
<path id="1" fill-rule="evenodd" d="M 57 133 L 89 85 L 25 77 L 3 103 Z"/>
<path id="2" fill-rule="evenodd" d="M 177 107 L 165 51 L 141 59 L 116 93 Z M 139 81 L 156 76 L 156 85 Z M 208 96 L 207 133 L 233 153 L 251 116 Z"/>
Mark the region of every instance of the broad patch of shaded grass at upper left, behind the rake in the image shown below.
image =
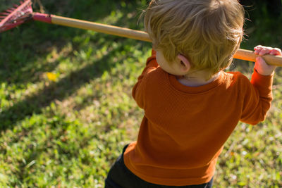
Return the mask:
<path id="1" fill-rule="evenodd" d="M 97 21 L 112 12 L 120 10 L 123 15 L 115 25 L 125 25 L 130 21 L 135 23 L 137 18 L 127 18 L 128 13 L 137 11 L 139 5 L 132 1 L 126 6 L 121 6 L 121 1 L 42 1 L 47 13 L 63 15 L 82 20 Z M 56 68 L 56 63 L 38 65 L 54 46 L 60 51 L 68 42 L 73 42 L 76 36 L 86 35 L 86 30 L 49 25 L 47 23 L 30 22 L 20 25 L 13 30 L 0 33 L 0 84 L 25 84 L 37 81 L 32 73 L 51 72 Z M 78 46 L 73 42 L 73 46 Z M 39 62 L 39 63 L 38 63 Z"/>

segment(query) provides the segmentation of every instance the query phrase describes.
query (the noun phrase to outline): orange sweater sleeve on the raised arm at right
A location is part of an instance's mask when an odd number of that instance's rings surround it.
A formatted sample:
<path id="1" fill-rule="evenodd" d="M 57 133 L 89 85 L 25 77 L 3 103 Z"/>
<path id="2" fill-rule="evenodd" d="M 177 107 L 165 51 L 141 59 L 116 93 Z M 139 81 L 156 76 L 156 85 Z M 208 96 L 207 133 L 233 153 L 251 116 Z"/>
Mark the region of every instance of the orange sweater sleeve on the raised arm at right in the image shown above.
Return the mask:
<path id="1" fill-rule="evenodd" d="M 242 81 L 243 111 L 240 121 L 256 125 L 265 120 L 271 106 L 273 74 L 260 75 L 254 69 L 251 81 L 247 77 L 244 77 Z"/>

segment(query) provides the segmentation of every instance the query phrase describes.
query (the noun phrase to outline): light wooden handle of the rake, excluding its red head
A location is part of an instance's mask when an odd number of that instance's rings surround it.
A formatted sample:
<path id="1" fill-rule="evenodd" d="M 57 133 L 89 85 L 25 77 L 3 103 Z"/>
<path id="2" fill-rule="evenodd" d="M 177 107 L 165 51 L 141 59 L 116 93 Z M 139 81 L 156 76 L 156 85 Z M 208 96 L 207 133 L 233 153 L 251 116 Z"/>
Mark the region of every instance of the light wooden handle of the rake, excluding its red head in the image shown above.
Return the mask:
<path id="1" fill-rule="evenodd" d="M 49 15 L 49 16 L 51 16 L 51 23 L 57 25 L 76 27 L 84 30 L 93 30 L 95 32 L 103 32 L 109 35 L 117 35 L 120 37 L 127 37 L 130 39 L 152 42 L 152 40 L 149 39 L 149 35 L 147 34 L 147 32 L 130 30 L 123 27 L 116 27 L 116 26 L 106 25 L 101 23 L 93 23 L 85 20 L 66 18 L 58 15 Z M 238 49 L 238 51 L 236 51 L 233 57 L 246 61 L 255 62 L 257 56 L 258 55 L 256 55 L 254 51 Z M 282 56 L 265 55 L 263 56 L 263 58 L 266 61 L 266 63 L 268 63 L 269 65 L 282 66 Z"/>

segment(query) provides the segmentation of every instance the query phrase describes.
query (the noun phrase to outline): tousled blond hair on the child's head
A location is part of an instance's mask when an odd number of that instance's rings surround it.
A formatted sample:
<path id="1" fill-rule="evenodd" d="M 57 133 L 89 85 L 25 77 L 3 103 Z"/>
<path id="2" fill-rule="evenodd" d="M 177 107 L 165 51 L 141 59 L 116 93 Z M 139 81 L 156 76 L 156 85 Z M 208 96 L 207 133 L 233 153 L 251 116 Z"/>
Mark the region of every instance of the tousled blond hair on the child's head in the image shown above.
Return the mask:
<path id="1" fill-rule="evenodd" d="M 192 70 L 209 70 L 212 77 L 240 46 L 244 9 L 237 0 L 152 0 L 144 24 L 168 62 L 183 54 Z"/>

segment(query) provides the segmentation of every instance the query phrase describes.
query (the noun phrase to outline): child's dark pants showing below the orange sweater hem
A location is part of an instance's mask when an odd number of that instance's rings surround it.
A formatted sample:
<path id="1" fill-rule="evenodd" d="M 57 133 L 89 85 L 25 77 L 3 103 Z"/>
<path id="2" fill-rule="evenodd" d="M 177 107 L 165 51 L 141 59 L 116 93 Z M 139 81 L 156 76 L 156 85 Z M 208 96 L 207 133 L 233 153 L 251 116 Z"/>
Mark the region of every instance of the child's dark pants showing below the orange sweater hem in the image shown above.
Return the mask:
<path id="1" fill-rule="evenodd" d="M 128 145 L 127 145 L 128 146 Z M 123 153 L 127 146 L 124 147 Z M 118 157 L 114 165 L 109 171 L 105 180 L 105 188 L 212 188 L 212 180 L 205 184 L 187 185 L 187 186 L 166 186 L 160 184 L 152 184 L 140 179 L 126 168 L 123 162 L 123 153 Z"/>

